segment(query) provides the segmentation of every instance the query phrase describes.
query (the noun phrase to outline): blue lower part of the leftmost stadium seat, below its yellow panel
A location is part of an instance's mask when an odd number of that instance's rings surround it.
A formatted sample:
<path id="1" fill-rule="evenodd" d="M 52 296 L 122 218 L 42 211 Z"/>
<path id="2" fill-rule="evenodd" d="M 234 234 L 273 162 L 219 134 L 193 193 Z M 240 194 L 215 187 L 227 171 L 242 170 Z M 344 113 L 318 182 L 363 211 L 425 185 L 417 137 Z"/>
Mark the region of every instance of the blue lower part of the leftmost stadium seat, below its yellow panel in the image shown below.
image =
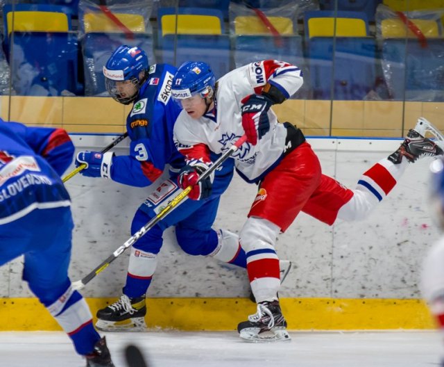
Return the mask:
<path id="1" fill-rule="evenodd" d="M 18 95 L 83 95 L 75 33 L 14 32 L 10 67 Z"/>

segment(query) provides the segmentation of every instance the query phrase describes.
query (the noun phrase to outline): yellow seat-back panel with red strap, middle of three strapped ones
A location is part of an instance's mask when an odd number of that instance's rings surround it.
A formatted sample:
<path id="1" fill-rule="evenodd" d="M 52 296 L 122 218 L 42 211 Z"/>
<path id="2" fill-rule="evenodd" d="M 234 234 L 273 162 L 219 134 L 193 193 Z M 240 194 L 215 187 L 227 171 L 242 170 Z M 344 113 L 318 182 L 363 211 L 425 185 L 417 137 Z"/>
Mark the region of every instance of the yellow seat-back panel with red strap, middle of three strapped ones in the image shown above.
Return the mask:
<path id="1" fill-rule="evenodd" d="M 293 34 L 293 22 L 286 17 L 268 17 L 268 20 L 282 35 Z M 271 34 L 259 17 L 246 16 L 234 19 L 234 32 L 242 35 Z"/>

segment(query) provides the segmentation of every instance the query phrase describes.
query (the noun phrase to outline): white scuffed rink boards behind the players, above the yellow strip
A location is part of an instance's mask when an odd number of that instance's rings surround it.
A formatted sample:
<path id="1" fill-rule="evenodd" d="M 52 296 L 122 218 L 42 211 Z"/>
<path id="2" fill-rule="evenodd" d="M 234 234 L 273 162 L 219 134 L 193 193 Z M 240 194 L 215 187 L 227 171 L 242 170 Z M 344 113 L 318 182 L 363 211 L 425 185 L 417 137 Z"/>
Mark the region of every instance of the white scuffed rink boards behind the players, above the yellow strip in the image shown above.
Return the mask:
<path id="1" fill-rule="evenodd" d="M 114 136 L 115 138 L 115 136 Z M 73 136 L 78 150 L 101 150 L 110 136 Z M 321 160 L 323 172 L 354 188 L 373 163 L 398 148 L 400 139 L 308 139 Z M 114 151 L 126 154 L 128 139 Z M 281 259 L 293 270 L 280 291 L 282 297 L 419 298 L 418 272 L 425 252 L 438 238 L 427 208 L 430 158 L 407 168 L 404 176 L 364 222 L 338 222 L 329 227 L 301 213 L 279 236 Z M 70 168 L 74 169 L 74 166 Z M 68 171 L 69 172 L 69 171 Z M 130 222 L 149 188 L 132 188 L 105 179 L 77 174 L 67 182 L 73 200 L 74 230 L 71 279 L 85 276 L 130 236 Z M 215 227 L 239 232 L 257 187 L 236 174 L 221 206 Z M 179 209 L 180 210 L 180 207 Z M 129 251 L 128 251 L 129 254 Z M 121 294 L 128 254 L 101 272 L 83 291 L 86 297 Z M 1 297 L 32 297 L 21 280 L 22 260 L 0 268 L 8 282 Z M 150 297 L 246 297 L 245 270 L 213 259 L 184 254 L 173 229 L 164 234 L 164 247 Z"/>

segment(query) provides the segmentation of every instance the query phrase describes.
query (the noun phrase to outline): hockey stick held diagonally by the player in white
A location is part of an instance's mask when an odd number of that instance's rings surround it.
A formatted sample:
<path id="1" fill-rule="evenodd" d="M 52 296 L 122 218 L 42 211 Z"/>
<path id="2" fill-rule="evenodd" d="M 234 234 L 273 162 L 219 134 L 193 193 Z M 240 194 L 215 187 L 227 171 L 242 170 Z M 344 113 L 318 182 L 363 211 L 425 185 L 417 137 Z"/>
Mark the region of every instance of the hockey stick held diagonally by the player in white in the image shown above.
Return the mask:
<path id="1" fill-rule="evenodd" d="M 236 152 L 237 149 L 239 149 L 239 147 L 242 144 L 244 144 L 244 142 L 246 142 L 246 139 L 247 139 L 247 137 L 246 137 L 246 135 L 244 135 L 244 136 L 241 136 L 241 138 L 239 138 L 237 140 L 237 142 L 234 142 L 234 144 L 225 153 L 223 153 L 219 157 L 219 159 L 217 159 L 210 166 L 210 168 L 208 168 L 205 172 L 203 172 L 203 174 L 201 174 L 199 176 L 196 183 L 198 183 L 198 182 L 202 181 L 203 179 L 206 179 L 208 176 L 210 176 L 210 174 L 212 174 L 212 172 L 214 172 L 214 170 L 219 168 L 219 166 L 224 161 L 226 161 L 228 158 L 230 158 L 230 156 L 234 152 Z M 134 243 L 136 243 L 136 241 L 139 240 L 139 238 L 144 236 L 144 234 L 146 234 L 147 231 L 149 231 L 151 228 L 153 228 L 157 224 L 157 222 L 162 220 L 162 218 L 164 218 L 165 215 L 167 215 L 170 211 L 172 211 L 174 208 L 176 208 L 176 206 L 178 206 L 178 204 L 180 202 L 182 202 L 182 200 L 188 196 L 188 194 L 192 188 L 193 188 L 193 186 L 188 186 L 187 188 L 185 188 L 185 190 L 182 191 L 182 193 L 176 195 L 176 197 L 173 197 L 173 199 L 171 199 L 171 202 L 169 202 L 169 204 L 167 206 L 165 206 L 165 208 L 162 209 L 162 211 L 160 211 L 153 219 L 151 219 L 148 223 L 146 223 L 146 225 L 144 225 L 144 227 L 139 229 L 139 231 L 137 231 L 135 234 L 133 234 L 133 236 L 128 238 L 128 240 L 126 240 L 126 242 L 123 243 L 123 245 L 121 245 L 117 250 L 115 250 L 112 254 L 110 254 L 110 256 L 108 256 L 108 258 L 105 261 L 103 261 L 99 266 L 97 266 L 94 270 L 92 270 L 92 272 L 89 272 L 89 274 L 86 275 L 85 277 L 83 277 L 82 279 L 77 280 L 76 282 L 73 282 L 72 287 L 76 290 L 82 289 L 87 283 L 91 282 L 92 279 L 94 279 L 94 277 L 96 277 L 96 275 L 99 274 L 99 272 L 102 272 L 103 270 L 108 268 L 110 263 L 112 263 L 112 261 L 117 259 L 117 257 L 120 254 L 122 254 L 123 251 L 125 251 L 131 245 L 134 245 Z"/>

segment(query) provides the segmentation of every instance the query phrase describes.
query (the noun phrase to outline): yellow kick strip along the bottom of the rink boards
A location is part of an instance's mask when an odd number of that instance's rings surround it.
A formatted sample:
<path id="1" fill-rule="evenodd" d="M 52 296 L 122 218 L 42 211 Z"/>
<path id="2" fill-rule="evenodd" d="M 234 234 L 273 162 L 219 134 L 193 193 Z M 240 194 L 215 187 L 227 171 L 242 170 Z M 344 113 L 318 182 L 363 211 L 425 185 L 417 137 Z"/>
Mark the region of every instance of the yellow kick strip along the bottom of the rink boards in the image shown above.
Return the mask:
<path id="1" fill-rule="evenodd" d="M 95 315 L 115 298 L 89 298 Z M 36 298 L 0 300 L 0 331 L 60 330 Z M 421 300 L 283 298 L 282 311 L 291 330 L 433 329 Z M 152 328 L 234 330 L 256 312 L 246 298 L 151 298 L 146 324 Z M 95 318 L 94 318 L 95 321 Z"/>

